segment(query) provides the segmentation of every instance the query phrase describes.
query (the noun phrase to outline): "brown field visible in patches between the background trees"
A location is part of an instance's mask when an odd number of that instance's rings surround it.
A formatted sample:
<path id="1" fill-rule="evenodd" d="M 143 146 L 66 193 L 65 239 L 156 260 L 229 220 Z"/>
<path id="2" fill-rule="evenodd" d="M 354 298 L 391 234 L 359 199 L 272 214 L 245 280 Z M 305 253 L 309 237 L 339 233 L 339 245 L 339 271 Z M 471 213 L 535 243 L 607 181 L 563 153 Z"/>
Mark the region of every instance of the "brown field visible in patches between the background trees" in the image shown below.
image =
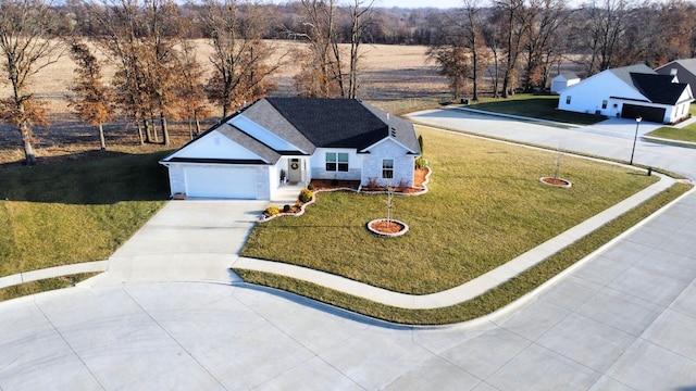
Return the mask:
<path id="1" fill-rule="evenodd" d="M 294 96 L 293 76 L 298 72 L 287 54 L 291 49 L 302 43 L 291 41 L 274 41 L 276 54 L 274 62 L 281 67 L 273 75 L 278 85 L 278 96 Z M 447 91 L 447 80 L 438 75 L 433 63 L 426 62 L 426 47 L 415 46 L 385 46 L 363 45 L 361 58 L 360 98 L 366 101 L 386 101 L 405 98 L 420 98 Z M 198 41 L 197 55 L 204 66 L 210 67 L 211 48 L 204 40 Z M 103 73 L 107 77 L 113 75 L 115 67 L 108 59 L 104 60 Z M 83 152 L 99 148 L 96 128 L 78 121 L 67 105 L 66 96 L 74 77 L 75 65 L 67 55 L 63 55 L 57 63 L 42 70 L 34 78 L 32 91 L 48 104 L 51 126 L 36 127 L 36 154 L 39 160 L 78 159 Z M 0 76 L 0 97 L 10 96 L 10 86 Z M 214 115 L 221 110 L 213 108 Z M 203 124 L 208 127 L 217 117 L 212 117 Z M 23 160 L 20 148 L 18 133 L 7 124 L 0 124 L 0 163 L 16 163 Z M 117 122 L 104 127 L 107 148 L 124 152 L 150 151 L 163 148 L 161 146 L 139 146 L 136 128 L 133 124 Z M 174 123 L 171 126 L 172 146 L 176 148 L 189 140 L 187 123 Z"/>

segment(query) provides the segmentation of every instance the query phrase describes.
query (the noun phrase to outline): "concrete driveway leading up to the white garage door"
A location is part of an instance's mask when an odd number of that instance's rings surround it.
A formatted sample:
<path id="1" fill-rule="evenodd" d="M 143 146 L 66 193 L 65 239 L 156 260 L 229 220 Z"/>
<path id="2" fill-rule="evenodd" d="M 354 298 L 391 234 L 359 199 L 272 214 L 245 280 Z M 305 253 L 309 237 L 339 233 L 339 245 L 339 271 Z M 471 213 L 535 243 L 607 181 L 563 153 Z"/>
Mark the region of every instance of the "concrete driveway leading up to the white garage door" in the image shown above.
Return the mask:
<path id="1" fill-rule="evenodd" d="M 238 282 L 229 270 L 266 201 L 169 202 L 88 286 L 142 281 Z"/>

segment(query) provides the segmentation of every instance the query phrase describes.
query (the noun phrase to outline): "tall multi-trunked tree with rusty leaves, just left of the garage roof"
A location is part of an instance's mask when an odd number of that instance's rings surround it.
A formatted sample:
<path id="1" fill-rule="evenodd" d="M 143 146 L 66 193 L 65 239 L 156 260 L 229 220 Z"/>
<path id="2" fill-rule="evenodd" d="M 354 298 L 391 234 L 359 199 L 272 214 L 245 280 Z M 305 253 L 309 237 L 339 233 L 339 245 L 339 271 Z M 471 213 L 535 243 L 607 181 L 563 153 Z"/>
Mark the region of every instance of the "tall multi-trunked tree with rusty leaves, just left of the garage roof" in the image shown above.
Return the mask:
<path id="1" fill-rule="evenodd" d="M 102 31 L 97 43 L 117 63 L 112 83 L 121 109 L 138 123 L 138 129 L 145 126 L 148 142 L 159 142 L 152 126 L 152 119 L 159 118 L 163 143 L 169 146 L 167 118 L 176 116 L 181 105 L 177 48 L 184 33 L 178 7 L 173 0 L 84 1 L 80 7 Z"/>

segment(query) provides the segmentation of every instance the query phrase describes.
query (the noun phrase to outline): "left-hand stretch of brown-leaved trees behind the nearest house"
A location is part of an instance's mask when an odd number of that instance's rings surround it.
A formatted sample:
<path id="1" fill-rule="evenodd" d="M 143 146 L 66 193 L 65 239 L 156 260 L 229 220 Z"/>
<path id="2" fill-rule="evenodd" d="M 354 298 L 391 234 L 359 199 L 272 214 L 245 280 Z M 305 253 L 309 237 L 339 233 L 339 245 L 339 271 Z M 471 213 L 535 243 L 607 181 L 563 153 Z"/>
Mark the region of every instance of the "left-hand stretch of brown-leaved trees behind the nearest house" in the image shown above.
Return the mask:
<path id="1" fill-rule="evenodd" d="M 69 0 L 51 7 L 45 0 L 0 2 L 0 52 L 11 96 L 0 99 L 0 121 L 16 126 L 26 164 L 36 162 L 32 127 L 48 126 L 46 104 L 33 90 L 35 76 L 62 55 L 75 62 L 70 105 L 80 119 L 99 129 L 116 113 L 135 124 L 141 143 L 170 144 L 169 122 L 189 122 L 191 137 L 210 115 L 209 102 L 223 117 L 276 89 L 269 76 L 284 59 L 302 64 L 295 76 L 303 97 L 357 98 L 359 46 L 371 24 L 372 3 L 352 0 L 350 26 L 338 26 L 336 0 L 301 0 L 301 24 L 284 34 L 306 42 L 271 62 L 276 48 L 265 39 L 278 20 L 273 7 L 250 1 Z M 206 73 L 190 42 L 204 31 L 213 52 Z M 345 38 L 344 35 L 348 35 Z M 348 40 L 348 50 L 339 43 Z M 105 54 L 116 72 L 107 84 L 95 51 Z M 195 124 L 195 125 L 194 125 Z M 161 139 L 160 139 L 161 137 Z"/>

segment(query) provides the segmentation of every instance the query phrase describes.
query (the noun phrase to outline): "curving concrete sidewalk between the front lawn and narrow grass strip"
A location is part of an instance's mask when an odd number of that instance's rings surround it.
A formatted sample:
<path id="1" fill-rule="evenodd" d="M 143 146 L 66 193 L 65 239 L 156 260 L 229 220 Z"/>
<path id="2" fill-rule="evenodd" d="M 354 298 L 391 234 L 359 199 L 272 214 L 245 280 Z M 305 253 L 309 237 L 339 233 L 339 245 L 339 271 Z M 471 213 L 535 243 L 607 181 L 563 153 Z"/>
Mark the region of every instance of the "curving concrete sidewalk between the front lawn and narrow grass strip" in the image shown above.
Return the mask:
<path id="1" fill-rule="evenodd" d="M 508 281 L 509 279 L 523 273 L 527 268 L 538 264 L 548 256 L 557 253 L 558 251 L 572 244 L 579 239 L 593 232 L 597 228 L 611 222 L 623 213 L 634 209 L 642 202 L 663 191 L 673 184 L 674 179 L 660 175 L 660 180 L 657 184 L 588 218 L 587 220 L 562 232 L 561 235 L 537 245 L 536 248 L 525 252 L 524 254 L 521 254 L 520 256 L 509 261 L 508 263 L 459 287 L 432 294 L 413 295 L 398 293 L 311 268 L 248 257 L 238 257 L 232 264 L 232 267 L 278 274 L 282 276 L 316 283 L 322 287 L 331 288 L 333 290 L 341 291 L 363 299 L 369 299 L 377 303 L 402 308 L 420 310 L 445 307 L 474 299 L 483 294 L 484 292 Z M 602 249 L 599 249 L 598 251 Z M 593 254 L 588 255 L 586 258 L 591 258 Z M 579 262 L 575 266 L 573 266 L 573 269 L 575 267 L 580 267 L 580 265 L 582 264 L 583 262 Z"/>

